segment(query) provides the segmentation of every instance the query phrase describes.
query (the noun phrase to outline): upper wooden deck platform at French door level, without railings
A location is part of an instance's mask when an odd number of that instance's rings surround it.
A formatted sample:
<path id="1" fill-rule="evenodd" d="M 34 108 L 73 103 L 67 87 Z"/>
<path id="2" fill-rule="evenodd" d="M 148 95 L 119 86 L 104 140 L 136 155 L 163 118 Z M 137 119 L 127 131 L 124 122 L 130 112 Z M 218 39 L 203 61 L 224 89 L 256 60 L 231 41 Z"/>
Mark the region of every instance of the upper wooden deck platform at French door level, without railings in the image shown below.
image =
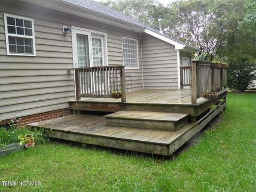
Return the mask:
<path id="1" fill-rule="evenodd" d="M 228 89 L 223 89 L 217 94 L 222 99 Z M 219 100 L 218 99 L 218 100 Z M 82 98 L 80 101 L 69 101 L 70 109 L 77 111 L 107 111 L 121 110 L 132 111 L 158 111 L 166 113 L 190 114 L 190 121 L 196 122 L 198 116 L 208 110 L 218 100 L 209 100 L 202 97 L 197 103 L 191 103 L 191 90 L 140 90 L 126 93 L 126 102 L 113 98 Z"/>

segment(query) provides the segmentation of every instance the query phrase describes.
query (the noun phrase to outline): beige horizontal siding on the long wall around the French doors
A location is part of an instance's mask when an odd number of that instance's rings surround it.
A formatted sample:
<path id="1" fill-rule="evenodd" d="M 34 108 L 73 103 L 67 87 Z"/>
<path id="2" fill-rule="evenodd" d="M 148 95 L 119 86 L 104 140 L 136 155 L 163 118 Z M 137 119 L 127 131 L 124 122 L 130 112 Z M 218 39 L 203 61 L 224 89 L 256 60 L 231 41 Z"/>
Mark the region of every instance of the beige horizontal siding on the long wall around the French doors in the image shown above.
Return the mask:
<path id="1" fill-rule="evenodd" d="M 34 19 L 36 57 L 6 55 L 3 13 Z M 140 68 L 127 69 L 126 75 L 132 76 L 133 90 L 142 89 L 139 33 L 20 1 L 1 1 L 0 119 L 9 113 L 20 117 L 68 108 L 68 101 L 75 99 L 71 35 L 62 34 L 63 25 L 107 33 L 109 65 L 123 65 L 122 36 L 137 39 Z"/>

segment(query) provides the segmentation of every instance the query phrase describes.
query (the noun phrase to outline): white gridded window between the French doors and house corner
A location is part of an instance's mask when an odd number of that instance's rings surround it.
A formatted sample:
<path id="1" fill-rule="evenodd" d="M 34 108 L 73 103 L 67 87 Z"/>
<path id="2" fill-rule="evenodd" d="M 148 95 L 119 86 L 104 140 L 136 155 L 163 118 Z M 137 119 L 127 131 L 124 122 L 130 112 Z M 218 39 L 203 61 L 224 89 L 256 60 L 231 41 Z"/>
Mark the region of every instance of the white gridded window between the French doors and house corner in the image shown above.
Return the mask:
<path id="1" fill-rule="evenodd" d="M 138 69 L 138 41 L 136 39 L 122 37 L 123 62 L 127 69 Z"/>

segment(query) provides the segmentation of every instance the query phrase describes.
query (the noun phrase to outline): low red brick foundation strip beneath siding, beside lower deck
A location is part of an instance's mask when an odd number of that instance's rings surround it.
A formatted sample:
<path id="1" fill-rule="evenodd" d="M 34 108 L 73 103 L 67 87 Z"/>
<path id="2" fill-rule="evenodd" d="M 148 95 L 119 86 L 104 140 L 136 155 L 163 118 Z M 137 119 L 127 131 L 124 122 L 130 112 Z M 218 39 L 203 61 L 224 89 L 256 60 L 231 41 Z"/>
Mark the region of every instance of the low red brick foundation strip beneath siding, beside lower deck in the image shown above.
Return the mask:
<path id="1" fill-rule="evenodd" d="M 25 126 L 29 123 L 41 122 L 41 121 L 45 121 L 48 119 L 62 117 L 62 116 L 70 115 L 70 114 L 72 114 L 72 110 L 70 110 L 70 108 L 67 108 L 67 109 L 49 111 L 49 112 L 45 112 L 45 113 L 41 113 L 41 114 L 19 117 L 19 118 L 17 118 L 18 119 L 17 126 L 21 127 L 21 126 Z"/>

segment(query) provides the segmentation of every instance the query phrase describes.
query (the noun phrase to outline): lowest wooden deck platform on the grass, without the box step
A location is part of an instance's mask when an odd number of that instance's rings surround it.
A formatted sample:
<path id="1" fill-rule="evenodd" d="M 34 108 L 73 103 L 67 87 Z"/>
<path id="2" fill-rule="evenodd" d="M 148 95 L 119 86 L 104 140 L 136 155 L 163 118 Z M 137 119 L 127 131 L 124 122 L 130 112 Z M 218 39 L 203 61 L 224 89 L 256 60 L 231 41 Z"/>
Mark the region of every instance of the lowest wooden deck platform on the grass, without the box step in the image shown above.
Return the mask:
<path id="1" fill-rule="evenodd" d="M 108 126 L 105 117 L 95 115 L 69 115 L 29 125 L 47 128 L 52 138 L 159 155 L 172 154 L 198 132 L 196 123 L 177 131 Z"/>

